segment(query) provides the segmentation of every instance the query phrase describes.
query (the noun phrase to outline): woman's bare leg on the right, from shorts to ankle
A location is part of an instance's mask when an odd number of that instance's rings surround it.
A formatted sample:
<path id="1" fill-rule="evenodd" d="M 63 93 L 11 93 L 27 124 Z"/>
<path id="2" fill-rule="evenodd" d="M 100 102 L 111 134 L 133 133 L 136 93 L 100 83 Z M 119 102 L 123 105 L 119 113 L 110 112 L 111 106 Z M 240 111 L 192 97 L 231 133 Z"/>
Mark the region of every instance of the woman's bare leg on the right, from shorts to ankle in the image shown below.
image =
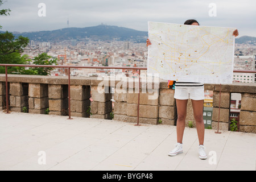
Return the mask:
<path id="1" fill-rule="evenodd" d="M 199 139 L 199 144 L 204 144 L 204 119 L 203 119 L 203 110 L 204 110 L 204 100 L 196 101 L 191 100 L 193 105 L 193 113 L 196 120 L 196 129 Z"/>

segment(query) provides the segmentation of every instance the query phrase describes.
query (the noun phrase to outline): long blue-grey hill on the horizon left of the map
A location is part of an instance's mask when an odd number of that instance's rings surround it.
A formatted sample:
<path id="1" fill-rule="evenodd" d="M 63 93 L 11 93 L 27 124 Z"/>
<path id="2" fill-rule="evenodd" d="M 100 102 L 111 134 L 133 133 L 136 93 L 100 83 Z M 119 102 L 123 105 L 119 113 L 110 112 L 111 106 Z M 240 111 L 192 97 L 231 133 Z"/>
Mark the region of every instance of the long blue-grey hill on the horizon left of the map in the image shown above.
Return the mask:
<path id="1" fill-rule="evenodd" d="M 147 32 L 137 31 L 131 28 L 117 26 L 99 25 L 85 28 L 63 28 L 53 31 L 24 32 L 16 33 L 15 36 L 22 35 L 30 40 L 40 42 L 59 42 L 63 40 L 83 40 L 90 38 L 92 40 L 131 40 L 140 42 L 146 41 Z"/>

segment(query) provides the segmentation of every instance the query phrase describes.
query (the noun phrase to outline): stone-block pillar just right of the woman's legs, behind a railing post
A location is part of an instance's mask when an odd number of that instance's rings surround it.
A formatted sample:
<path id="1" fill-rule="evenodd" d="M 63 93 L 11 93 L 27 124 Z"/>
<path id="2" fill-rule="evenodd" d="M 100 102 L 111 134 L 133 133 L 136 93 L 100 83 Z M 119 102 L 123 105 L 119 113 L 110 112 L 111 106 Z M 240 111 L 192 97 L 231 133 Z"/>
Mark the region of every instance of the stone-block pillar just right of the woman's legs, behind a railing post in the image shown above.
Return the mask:
<path id="1" fill-rule="evenodd" d="M 220 125 L 219 130 L 229 130 L 229 110 L 230 110 L 230 92 L 213 92 L 213 116 L 212 116 L 212 129 L 218 128 L 218 113 L 220 103 Z"/>

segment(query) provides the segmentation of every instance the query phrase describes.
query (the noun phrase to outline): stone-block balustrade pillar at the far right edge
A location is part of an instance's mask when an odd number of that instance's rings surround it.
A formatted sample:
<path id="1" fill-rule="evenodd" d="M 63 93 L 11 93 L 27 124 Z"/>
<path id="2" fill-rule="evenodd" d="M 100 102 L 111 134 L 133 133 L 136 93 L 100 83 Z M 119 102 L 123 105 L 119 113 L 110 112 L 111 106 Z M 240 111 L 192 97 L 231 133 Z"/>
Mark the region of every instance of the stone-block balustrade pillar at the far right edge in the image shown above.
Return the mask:
<path id="1" fill-rule="evenodd" d="M 256 133 L 256 94 L 242 93 L 240 131 Z"/>

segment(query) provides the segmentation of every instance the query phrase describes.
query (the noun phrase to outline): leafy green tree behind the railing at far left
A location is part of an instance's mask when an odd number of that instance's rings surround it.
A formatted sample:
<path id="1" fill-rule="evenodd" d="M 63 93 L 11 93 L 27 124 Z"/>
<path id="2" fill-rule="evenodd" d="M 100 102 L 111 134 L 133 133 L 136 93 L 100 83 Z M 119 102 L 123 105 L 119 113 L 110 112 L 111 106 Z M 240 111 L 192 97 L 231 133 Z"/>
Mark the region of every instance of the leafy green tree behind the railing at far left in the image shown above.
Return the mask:
<path id="1" fill-rule="evenodd" d="M 0 6 L 3 4 L 0 0 Z M 10 15 L 10 9 L 0 10 L 0 16 Z M 0 26 L 0 28 L 2 28 Z M 30 40 L 19 36 L 15 36 L 11 32 L 4 32 L 0 34 L 0 64 L 29 64 L 30 59 L 28 55 L 21 56 L 25 48 L 28 46 Z M 51 59 L 47 53 L 39 54 L 34 57 L 33 63 L 36 65 L 52 65 L 57 64 L 56 59 Z M 9 74 L 23 74 L 23 75 L 49 75 L 53 68 L 29 68 L 24 67 L 8 67 L 7 72 Z M 0 73 L 5 73 L 5 67 L 0 67 Z"/>

